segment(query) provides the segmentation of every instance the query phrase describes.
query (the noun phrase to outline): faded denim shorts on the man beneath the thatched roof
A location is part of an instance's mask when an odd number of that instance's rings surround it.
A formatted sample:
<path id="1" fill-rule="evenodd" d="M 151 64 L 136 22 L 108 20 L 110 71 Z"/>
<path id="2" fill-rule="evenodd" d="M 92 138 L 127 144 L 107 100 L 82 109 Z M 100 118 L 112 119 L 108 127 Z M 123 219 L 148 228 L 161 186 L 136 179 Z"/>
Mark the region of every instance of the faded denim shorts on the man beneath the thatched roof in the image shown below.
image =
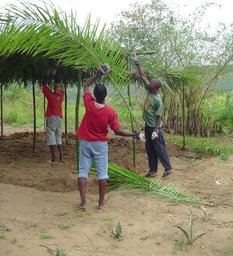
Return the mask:
<path id="1" fill-rule="evenodd" d="M 46 118 L 47 146 L 61 144 L 62 118 L 50 116 Z"/>

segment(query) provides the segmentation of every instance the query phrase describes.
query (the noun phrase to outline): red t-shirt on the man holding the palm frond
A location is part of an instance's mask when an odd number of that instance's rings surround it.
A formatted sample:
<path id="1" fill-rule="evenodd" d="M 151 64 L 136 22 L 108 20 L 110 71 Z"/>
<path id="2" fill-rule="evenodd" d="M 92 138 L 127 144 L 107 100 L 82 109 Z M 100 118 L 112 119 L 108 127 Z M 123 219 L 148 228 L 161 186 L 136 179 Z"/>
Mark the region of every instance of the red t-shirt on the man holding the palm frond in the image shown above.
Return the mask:
<path id="1" fill-rule="evenodd" d="M 106 104 L 102 108 L 97 108 L 94 103 L 96 100 L 90 92 L 83 95 L 83 100 L 86 113 L 76 136 L 92 142 L 108 141 L 108 125 L 113 131 L 120 127 L 116 111 Z"/>

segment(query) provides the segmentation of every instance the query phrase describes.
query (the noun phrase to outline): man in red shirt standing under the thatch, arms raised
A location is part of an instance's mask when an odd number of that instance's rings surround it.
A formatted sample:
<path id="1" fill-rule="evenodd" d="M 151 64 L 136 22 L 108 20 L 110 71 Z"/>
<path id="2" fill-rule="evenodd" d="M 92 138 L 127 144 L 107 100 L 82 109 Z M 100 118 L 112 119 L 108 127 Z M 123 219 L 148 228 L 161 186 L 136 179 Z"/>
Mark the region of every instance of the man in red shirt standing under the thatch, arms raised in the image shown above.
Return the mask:
<path id="1" fill-rule="evenodd" d="M 56 76 L 57 69 L 53 69 L 52 71 L 48 70 L 47 74 L 43 79 L 43 89 L 42 93 L 44 93 L 47 98 L 48 105 L 46 110 L 46 137 L 47 137 L 47 145 L 50 146 L 52 159 L 48 160 L 48 163 L 57 163 L 55 158 L 55 148 L 56 145 L 59 151 L 59 161 L 65 162 L 63 159 L 62 152 L 62 144 L 61 144 L 61 134 L 62 134 L 62 102 L 64 98 L 64 90 Z M 54 75 L 55 80 L 55 88 L 54 93 L 49 90 L 47 87 L 48 76 Z"/>

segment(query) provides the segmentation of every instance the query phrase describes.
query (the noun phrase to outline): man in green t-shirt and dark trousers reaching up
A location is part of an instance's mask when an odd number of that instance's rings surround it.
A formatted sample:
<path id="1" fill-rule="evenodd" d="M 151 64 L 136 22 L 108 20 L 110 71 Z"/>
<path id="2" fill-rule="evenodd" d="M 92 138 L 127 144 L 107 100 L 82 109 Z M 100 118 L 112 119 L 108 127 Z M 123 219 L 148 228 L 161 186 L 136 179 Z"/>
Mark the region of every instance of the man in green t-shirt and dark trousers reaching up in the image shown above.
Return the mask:
<path id="1" fill-rule="evenodd" d="M 172 165 L 170 163 L 161 129 L 163 103 L 158 94 L 158 89 L 161 87 L 162 83 L 159 79 L 155 78 L 153 78 L 151 82 L 148 82 L 135 53 L 132 55 L 132 59 L 137 66 L 139 77 L 145 84 L 145 89 L 147 90 L 147 96 L 143 107 L 143 119 L 146 123 L 145 147 L 150 169 L 145 177 L 149 178 L 157 175 L 158 159 L 165 169 L 162 177 L 166 177 L 172 173 Z"/>

